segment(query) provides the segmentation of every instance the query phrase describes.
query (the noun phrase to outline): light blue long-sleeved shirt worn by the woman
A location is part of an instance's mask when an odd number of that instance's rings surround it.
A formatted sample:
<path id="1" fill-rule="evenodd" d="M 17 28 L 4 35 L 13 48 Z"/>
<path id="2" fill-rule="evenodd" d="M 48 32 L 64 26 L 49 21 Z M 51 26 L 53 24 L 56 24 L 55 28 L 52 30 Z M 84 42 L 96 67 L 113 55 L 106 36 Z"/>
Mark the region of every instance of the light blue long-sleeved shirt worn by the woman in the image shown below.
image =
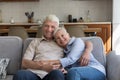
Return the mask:
<path id="1" fill-rule="evenodd" d="M 65 57 L 60 59 L 61 65 L 67 68 L 80 67 L 77 60 L 83 54 L 84 49 L 84 41 L 81 38 L 72 37 L 66 46 L 66 49 L 64 49 Z M 90 62 L 88 66 L 93 67 L 105 74 L 104 66 L 94 58 L 92 53 L 90 54 Z"/>

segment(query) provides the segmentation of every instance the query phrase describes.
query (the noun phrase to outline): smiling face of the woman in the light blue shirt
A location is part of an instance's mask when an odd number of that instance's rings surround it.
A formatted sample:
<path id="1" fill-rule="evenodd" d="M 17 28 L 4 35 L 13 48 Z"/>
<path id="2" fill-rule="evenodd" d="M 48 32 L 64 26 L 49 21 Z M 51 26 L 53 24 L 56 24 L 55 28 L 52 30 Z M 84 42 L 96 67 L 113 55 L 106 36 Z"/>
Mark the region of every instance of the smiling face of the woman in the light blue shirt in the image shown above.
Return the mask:
<path id="1" fill-rule="evenodd" d="M 55 40 L 57 42 L 57 44 L 61 47 L 66 47 L 66 45 L 68 44 L 69 40 L 70 40 L 70 36 L 68 33 L 66 33 L 63 30 L 58 30 L 55 33 Z"/>

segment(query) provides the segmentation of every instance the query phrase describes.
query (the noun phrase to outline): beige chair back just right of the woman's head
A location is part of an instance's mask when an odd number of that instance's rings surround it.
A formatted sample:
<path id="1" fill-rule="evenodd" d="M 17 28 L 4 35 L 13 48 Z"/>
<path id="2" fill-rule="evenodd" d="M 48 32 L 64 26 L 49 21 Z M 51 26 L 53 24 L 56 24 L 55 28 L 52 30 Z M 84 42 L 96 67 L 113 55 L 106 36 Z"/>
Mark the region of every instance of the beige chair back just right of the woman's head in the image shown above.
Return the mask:
<path id="1" fill-rule="evenodd" d="M 86 26 L 85 26 L 86 27 Z M 65 27 L 70 36 L 84 37 L 85 33 L 83 31 L 84 26 L 69 26 Z"/>

